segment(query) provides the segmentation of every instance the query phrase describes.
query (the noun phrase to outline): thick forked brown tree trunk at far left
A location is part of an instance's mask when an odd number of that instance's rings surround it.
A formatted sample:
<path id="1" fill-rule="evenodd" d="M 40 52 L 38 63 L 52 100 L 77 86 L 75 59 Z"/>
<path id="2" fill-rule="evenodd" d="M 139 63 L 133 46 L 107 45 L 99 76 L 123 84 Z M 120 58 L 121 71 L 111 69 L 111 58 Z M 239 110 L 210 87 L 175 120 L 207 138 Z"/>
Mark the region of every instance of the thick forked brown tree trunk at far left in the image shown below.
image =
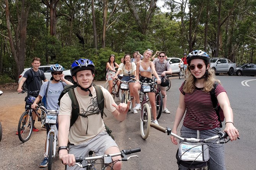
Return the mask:
<path id="1" fill-rule="evenodd" d="M 6 21 L 7 21 L 7 32 L 9 37 L 9 43 L 11 48 L 11 54 L 15 60 L 16 64 L 16 72 L 15 72 L 15 81 L 18 82 L 19 75 L 23 72 L 24 61 L 25 61 L 25 47 L 26 47 L 26 28 L 27 28 L 27 20 L 28 20 L 28 11 L 30 8 L 29 3 L 25 3 L 25 0 L 21 0 L 21 5 L 19 7 L 19 2 L 16 0 L 16 7 L 19 13 L 17 14 L 17 24 L 13 23 L 14 20 L 12 16 L 10 16 L 9 11 L 9 3 L 8 0 L 5 0 L 5 13 L 6 13 Z M 11 30 L 10 21 L 13 27 L 13 31 Z M 14 37 L 12 36 L 12 32 L 14 32 Z M 15 42 L 13 41 L 15 39 Z"/>

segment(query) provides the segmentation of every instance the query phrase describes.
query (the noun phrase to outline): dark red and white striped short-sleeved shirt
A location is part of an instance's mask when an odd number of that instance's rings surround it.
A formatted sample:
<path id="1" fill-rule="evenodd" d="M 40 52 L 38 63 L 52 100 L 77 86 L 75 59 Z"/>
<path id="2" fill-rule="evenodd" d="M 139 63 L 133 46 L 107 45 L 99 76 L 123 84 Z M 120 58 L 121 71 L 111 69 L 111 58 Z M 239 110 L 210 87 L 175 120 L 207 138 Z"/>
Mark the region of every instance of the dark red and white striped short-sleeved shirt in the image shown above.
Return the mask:
<path id="1" fill-rule="evenodd" d="M 210 92 L 202 91 L 202 88 L 196 88 L 193 93 L 184 93 L 183 85 L 184 83 L 179 88 L 181 93 L 185 95 L 184 102 L 186 104 L 183 125 L 196 130 L 208 130 L 220 127 L 218 116 L 212 105 Z M 222 85 L 218 84 L 215 89 L 215 96 L 217 97 L 223 91 L 225 89 Z"/>

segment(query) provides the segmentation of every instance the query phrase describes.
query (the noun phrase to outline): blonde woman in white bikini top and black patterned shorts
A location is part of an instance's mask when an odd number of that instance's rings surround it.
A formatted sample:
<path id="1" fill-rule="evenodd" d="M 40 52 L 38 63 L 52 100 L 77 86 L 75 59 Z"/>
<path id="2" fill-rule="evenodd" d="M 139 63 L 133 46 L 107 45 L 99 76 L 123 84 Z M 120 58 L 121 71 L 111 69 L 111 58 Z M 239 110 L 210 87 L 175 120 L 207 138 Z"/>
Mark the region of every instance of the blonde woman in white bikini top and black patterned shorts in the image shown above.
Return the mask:
<path id="1" fill-rule="evenodd" d="M 157 83 L 160 84 L 161 80 L 159 79 L 157 72 L 155 70 L 155 65 L 153 64 L 152 61 L 150 61 L 150 58 L 152 56 L 153 51 L 150 49 L 147 49 L 144 53 L 143 56 L 144 58 L 142 61 L 139 61 L 137 63 L 137 68 L 136 68 L 136 79 L 140 80 L 140 82 L 143 83 L 152 83 L 152 73 L 153 75 L 157 78 Z M 138 90 L 140 90 L 140 83 L 135 82 L 134 83 L 134 97 L 137 102 L 136 106 L 134 109 L 140 110 L 141 105 L 140 105 L 140 96 L 138 93 Z M 148 93 L 151 109 L 152 109 L 152 114 L 153 114 L 153 123 L 156 123 L 157 125 L 157 109 L 155 105 L 155 87 L 154 85 L 151 85 L 150 92 Z"/>

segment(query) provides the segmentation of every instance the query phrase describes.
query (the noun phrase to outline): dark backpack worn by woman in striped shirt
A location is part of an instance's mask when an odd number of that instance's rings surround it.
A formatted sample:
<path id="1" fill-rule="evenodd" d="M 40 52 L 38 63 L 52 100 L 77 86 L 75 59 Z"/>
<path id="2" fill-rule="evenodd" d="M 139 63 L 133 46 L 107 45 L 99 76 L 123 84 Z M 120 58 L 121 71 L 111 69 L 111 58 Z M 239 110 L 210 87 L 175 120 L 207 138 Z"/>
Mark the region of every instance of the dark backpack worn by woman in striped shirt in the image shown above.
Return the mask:
<path id="1" fill-rule="evenodd" d="M 217 85 L 218 85 L 218 82 L 215 82 L 214 88 L 210 91 L 210 95 L 211 95 L 212 105 L 215 108 L 216 114 L 218 116 L 218 121 L 220 122 L 220 127 L 222 128 L 221 122 L 224 121 L 225 117 L 224 117 L 223 110 L 221 109 L 220 105 L 218 104 L 218 100 L 215 97 L 215 89 L 216 89 Z"/>

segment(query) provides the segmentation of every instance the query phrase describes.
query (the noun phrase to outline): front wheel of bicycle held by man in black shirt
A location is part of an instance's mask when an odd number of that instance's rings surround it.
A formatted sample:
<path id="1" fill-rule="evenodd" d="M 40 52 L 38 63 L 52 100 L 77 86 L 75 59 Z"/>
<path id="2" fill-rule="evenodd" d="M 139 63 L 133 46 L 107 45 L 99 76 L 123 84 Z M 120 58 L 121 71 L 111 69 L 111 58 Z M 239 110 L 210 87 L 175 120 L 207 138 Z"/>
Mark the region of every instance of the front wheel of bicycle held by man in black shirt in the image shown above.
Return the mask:
<path id="1" fill-rule="evenodd" d="M 34 126 L 33 126 L 32 115 L 29 115 L 29 111 L 23 112 L 23 114 L 21 114 L 19 124 L 18 124 L 18 136 L 20 141 L 26 142 L 29 140 L 33 132 L 33 127 Z"/>

